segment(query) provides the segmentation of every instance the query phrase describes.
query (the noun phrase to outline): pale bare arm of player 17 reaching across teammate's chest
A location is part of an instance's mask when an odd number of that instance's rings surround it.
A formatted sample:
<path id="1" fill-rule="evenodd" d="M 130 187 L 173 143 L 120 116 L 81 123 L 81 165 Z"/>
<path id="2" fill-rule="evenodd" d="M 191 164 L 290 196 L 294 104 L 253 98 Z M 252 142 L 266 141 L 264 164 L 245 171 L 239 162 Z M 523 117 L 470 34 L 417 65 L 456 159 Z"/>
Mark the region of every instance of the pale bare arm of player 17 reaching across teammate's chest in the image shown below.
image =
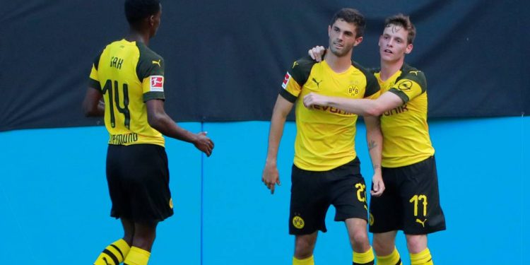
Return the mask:
<path id="1" fill-rule="evenodd" d="M 403 100 L 391 92 L 385 92 L 375 100 L 327 97 L 317 93 L 309 93 L 304 97 L 305 107 L 313 107 L 314 105 L 336 107 L 363 116 L 379 116 L 403 104 Z"/>

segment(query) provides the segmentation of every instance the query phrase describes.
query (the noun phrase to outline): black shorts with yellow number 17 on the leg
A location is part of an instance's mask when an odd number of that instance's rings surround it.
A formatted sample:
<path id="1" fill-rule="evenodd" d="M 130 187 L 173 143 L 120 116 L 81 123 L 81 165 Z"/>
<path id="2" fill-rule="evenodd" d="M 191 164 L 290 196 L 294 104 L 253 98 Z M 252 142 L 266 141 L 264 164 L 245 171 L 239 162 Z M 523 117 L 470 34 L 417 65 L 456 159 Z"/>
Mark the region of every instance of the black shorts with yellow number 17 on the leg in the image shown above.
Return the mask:
<path id="1" fill-rule="evenodd" d="M 445 230 L 434 157 L 404 167 L 382 167 L 382 177 L 386 189 L 370 199 L 370 232 L 426 235 Z"/>

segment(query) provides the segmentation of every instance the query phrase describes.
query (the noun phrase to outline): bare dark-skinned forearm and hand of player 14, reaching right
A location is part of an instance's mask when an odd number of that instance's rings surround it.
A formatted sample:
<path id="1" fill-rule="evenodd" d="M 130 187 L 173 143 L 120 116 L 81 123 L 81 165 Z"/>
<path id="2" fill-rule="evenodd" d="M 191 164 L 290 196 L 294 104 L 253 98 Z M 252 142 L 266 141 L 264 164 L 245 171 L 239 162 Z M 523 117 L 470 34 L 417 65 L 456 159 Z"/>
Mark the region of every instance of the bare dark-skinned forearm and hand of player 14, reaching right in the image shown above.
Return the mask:
<path id="1" fill-rule="evenodd" d="M 193 143 L 200 151 L 210 156 L 213 150 L 213 141 L 206 137 L 206 132 L 202 131 L 199 134 L 194 134 L 178 126 L 169 115 L 165 113 L 163 100 L 148 100 L 147 105 L 147 120 L 149 125 L 160 131 L 161 134 L 175 138 L 181 141 Z"/>

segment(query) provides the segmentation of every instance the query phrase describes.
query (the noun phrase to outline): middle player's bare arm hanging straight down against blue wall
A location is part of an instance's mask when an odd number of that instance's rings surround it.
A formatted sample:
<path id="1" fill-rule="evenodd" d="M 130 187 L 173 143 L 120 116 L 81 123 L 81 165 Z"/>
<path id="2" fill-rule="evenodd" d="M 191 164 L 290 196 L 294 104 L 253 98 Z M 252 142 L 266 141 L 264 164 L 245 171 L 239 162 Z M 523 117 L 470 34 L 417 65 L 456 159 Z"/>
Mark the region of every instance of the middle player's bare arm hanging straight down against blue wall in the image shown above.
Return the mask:
<path id="1" fill-rule="evenodd" d="M 274 105 L 272 112 L 271 129 L 269 130 L 269 148 L 267 148 L 265 168 L 261 175 L 261 181 L 271 190 L 271 194 L 274 194 L 275 185 L 281 184 L 276 163 L 278 147 L 280 146 L 281 136 L 283 135 L 285 119 L 287 119 L 290 110 L 293 109 L 293 105 L 293 103 L 278 95 L 276 105 Z"/>

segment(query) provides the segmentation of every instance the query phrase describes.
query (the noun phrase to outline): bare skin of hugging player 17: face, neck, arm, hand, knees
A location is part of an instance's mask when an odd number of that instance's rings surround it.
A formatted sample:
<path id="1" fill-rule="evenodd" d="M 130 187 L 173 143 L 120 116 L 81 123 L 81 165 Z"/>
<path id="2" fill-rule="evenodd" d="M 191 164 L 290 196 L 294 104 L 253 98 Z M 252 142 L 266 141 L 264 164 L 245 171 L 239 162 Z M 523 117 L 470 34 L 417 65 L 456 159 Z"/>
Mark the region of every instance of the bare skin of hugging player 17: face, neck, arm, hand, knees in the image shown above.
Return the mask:
<path id="1" fill-rule="evenodd" d="M 379 36 L 379 55 L 381 57 L 381 79 L 387 80 L 401 69 L 405 61 L 405 55 L 412 52 L 413 45 L 407 41 L 408 31 L 401 25 L 389 24 L 384 28 L 383 34 Z M 326 49 L 317 46 L 309 50 L 310 56 L 316 61 L 322 60 Z M 305 107 L 312 108 L 314 105 L 336 107 L 346 112 L 360 115 L 380 116 L 382 113 L 400 107 L 404 102 L 398 95 L 390 92 L 383 93 L 376 100 L 346 99 L 326 97 L 317 93 L 310 93 L 304 98 Z M 397 231 L 375 233 L 373 247 L 377 256 L 387 256 L 396 247 Z M 427 235 L 405 235 L 408 251 L 420 253 L 427 248 Z"/>

